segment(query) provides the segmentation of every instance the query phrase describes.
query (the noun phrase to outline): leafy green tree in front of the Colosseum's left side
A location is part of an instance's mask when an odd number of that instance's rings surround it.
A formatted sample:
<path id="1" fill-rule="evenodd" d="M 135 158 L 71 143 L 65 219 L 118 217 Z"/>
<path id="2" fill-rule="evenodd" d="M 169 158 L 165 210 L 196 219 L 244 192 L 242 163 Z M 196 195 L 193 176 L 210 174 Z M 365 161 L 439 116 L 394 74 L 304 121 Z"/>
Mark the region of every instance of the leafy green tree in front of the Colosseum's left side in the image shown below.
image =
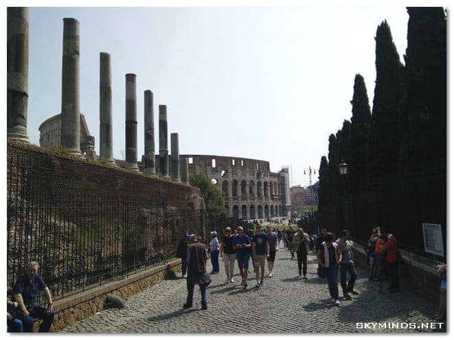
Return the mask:
<path id="1" fill-rule="evenodd" d="M 194 173 L 190 175 L 189 184 L 200 189 L 201 196 L 205 199 L 205 207 L 207 208 L 209 219 L 225 217 L 223 193 L 212 184 L 207 175 Z"/>

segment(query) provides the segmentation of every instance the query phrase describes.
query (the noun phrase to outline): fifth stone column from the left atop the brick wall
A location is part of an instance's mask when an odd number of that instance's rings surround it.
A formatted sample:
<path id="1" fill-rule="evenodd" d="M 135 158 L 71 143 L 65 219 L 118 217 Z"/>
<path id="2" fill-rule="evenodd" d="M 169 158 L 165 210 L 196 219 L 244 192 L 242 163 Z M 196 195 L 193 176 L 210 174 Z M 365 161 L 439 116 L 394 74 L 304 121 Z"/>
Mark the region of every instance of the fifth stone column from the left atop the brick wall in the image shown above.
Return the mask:
<path id="1" fill-rule="evenodd" d="M 153 93 L 144 91 L 145 136 L 144 136 L 144 173 L 155 173 L 155 121 L 153 111 Z"/>

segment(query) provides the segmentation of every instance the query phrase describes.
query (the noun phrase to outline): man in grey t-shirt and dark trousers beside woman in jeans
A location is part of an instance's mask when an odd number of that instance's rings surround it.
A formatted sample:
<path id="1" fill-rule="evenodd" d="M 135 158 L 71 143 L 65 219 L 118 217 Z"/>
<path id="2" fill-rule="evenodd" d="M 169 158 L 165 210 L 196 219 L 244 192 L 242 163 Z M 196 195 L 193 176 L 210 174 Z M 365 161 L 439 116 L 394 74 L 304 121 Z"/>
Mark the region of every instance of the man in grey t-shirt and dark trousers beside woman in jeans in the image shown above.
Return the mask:
<path id="1" fill-rule="evenodd" d="M 341 287 L 343 292 L 343 298 L 350 300 L 352 297 L 349 293 L 354 295 L 358 294 L 354 291 L 354 282 L 356 281 L 356 269 L 354 268 L 352 250 L 350 246 L 350 232 L 348 230 L 341 230 L 341 237 L 337 239 L 336 244 L 342 254 L 341 261 Z M 347 284 L 347 272 L 350 276 Z"/>

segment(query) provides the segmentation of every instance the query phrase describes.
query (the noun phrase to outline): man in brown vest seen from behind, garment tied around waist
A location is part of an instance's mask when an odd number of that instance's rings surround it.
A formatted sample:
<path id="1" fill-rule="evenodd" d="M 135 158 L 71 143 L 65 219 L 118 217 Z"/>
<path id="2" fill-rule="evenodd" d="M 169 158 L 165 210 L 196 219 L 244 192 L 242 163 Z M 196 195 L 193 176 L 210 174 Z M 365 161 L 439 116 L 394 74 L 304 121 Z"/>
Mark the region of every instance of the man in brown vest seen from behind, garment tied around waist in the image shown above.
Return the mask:
<path id="1" fill-rule="evenodd" d="M 202 309 L 207 309 L 207 285 L 205 284 L 205 278 L 207 276 L 207 252 L 203 243 L 196 242 L 196 235 L 194 234 L 189 236 L 186 263 L 188 263 L 188 278 L 186 279 L 188 298 L 186 298 L 183 308 L 192 308 L 194 286 L 198 284 L 202 297 Z"/>

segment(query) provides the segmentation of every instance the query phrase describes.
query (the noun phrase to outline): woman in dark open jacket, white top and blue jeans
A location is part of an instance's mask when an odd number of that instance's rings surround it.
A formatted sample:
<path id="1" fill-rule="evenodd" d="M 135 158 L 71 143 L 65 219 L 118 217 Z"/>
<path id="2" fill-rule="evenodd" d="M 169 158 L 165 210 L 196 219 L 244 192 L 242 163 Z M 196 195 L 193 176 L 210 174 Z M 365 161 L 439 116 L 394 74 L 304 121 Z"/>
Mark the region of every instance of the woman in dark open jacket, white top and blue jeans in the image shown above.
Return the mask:
<path id="1" fill-rule="evenodd" d="M 330 290 L 331 302 L 336 306 L 341 305 L 339 300 L 339 287 L 337 286 L 337 274 L 339 265 L 342 261 L 342 254 L 339 251 L 334 241 L 334 234 L 327 232 L 325 241 L 321 243 L 317 250 L 317 260 L 320 267 L 326 267 L 326 280 L 328 281 L 328 289 Z"/>

